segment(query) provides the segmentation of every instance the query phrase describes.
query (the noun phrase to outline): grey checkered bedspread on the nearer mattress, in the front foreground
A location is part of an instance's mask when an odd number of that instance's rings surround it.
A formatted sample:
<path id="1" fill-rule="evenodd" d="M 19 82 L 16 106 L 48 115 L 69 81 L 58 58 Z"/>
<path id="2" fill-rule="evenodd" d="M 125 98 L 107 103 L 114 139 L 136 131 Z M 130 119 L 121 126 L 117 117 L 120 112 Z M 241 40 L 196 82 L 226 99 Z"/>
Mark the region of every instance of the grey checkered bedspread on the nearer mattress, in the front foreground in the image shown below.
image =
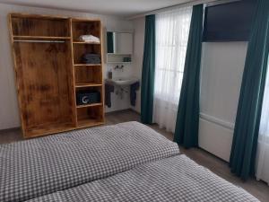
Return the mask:
<path id="1" fill-rule="evenodd" d="M 185 155 L 150 162 L 29 202 L 258 202 Z"/>

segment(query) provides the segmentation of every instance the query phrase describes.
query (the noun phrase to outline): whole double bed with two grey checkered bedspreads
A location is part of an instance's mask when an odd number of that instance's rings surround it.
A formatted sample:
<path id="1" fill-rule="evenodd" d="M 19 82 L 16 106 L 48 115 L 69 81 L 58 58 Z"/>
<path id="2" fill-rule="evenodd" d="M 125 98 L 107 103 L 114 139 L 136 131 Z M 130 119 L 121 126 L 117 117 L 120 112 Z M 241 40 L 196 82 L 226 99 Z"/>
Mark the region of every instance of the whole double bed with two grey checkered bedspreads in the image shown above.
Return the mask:
<path id="1" fill-rule="evenodd" d="M 138 122 L 0 145 L 0 201 L 258 201 Z"/>

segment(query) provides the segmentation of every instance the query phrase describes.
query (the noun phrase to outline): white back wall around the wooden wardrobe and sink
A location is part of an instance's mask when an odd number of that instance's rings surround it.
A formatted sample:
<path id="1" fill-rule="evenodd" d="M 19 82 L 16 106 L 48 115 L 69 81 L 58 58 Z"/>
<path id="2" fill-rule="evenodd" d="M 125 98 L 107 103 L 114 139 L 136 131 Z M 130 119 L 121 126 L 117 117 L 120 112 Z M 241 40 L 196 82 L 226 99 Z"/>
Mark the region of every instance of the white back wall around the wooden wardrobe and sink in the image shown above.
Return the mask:
<path id="1" fill-rule="evenodd" d="M 7 25 L 8 13 L 40 13 L 40 14 L 54 14 L 74 17 L 87 17 L 87 18 L 100 18 L 104 29 L 118 30 L 118 31 L 131 31 L 133 30 L 133 22 L 124 21 L 113 16 L 106 16 L 92 13 L 77 13 L 65 10 L 38 8 L 19 6 L 11 4 L 0 4 L 0 129 L 19 127 L 19 110 L 17 103 L 17 92 L 15 90 L 14 72 L 13 72 L 13 60 L 11 55 L 9 30 Z M 106 72 L 107 66 L 104 66 L 104 72 Z M 128 71 L 132 71 L 131 66 L 126 67 L 125 74 Z M 122 74 L 121 72 L 115 73 Z M 131 73 L 130 73 L 131 74 Z M 126 97 L 127 99 L 127 97 Z M 129 101 L 120 100 L 117 97 L 113 97 L 113 109 L 122 110 L 129 108 Z"/>

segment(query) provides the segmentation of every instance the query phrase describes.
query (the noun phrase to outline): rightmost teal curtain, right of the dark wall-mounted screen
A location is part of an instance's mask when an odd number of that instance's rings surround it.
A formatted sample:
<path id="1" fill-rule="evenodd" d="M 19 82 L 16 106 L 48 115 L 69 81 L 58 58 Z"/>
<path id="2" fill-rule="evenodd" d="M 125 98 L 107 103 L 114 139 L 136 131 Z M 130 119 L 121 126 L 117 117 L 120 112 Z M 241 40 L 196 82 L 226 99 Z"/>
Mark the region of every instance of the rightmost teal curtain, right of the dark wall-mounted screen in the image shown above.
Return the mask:
<path id="1" fill-rule="evenodd" d="M 230 154 L 230 170 L 243 180 L 254 174 L 255 169 L 268 61 L 268 19 L 269 1 L 257 0 Z"/>

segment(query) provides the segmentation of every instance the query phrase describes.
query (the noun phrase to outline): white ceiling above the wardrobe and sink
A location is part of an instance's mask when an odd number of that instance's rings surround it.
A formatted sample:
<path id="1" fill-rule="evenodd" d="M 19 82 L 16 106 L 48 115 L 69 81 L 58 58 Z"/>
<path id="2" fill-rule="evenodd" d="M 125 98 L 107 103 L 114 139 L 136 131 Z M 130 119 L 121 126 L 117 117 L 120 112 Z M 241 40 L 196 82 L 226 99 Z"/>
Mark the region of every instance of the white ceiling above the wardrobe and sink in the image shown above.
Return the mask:
<path id="1" fill-rule="evenodd" d="M 61 8 L 88 13 L 131 17 L 194 0 L 0 0 L 0 3 Z"/>

